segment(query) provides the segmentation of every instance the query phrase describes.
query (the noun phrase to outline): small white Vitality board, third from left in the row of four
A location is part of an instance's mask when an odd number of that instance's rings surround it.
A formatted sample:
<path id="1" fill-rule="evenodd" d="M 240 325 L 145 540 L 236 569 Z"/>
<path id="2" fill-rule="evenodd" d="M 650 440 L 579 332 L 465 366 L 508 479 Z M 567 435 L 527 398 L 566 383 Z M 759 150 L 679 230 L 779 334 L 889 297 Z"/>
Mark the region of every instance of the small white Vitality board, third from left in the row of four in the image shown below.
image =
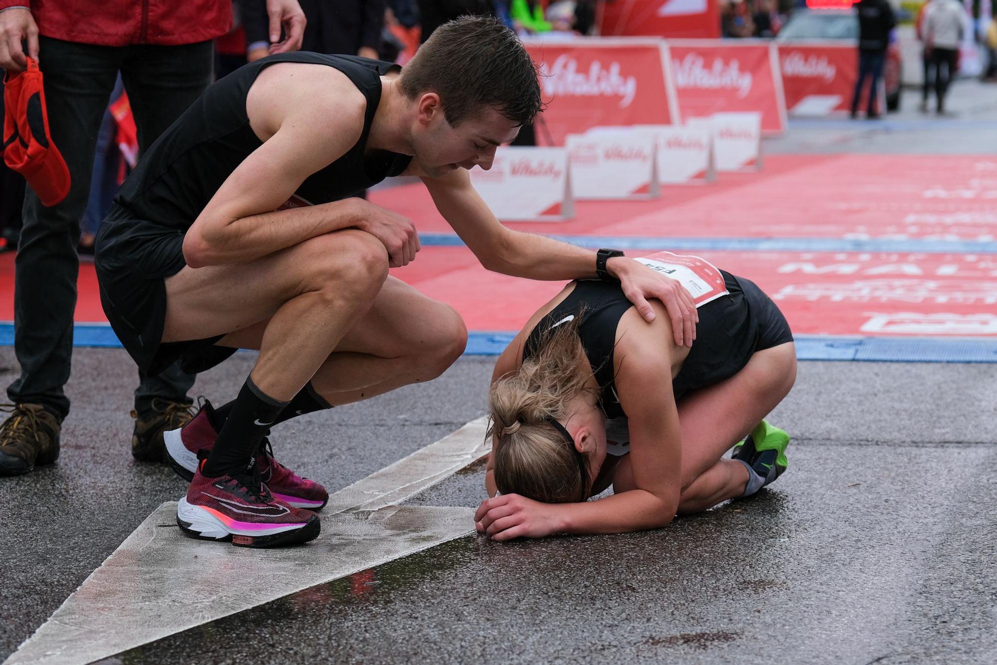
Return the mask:
<path id="1" fill-rule="evenodd" d="M 703 185 L 717 179 L 713 129 L 681 125 L 639 125 L 653 141 L 658 182 L 662 185 Z"/>

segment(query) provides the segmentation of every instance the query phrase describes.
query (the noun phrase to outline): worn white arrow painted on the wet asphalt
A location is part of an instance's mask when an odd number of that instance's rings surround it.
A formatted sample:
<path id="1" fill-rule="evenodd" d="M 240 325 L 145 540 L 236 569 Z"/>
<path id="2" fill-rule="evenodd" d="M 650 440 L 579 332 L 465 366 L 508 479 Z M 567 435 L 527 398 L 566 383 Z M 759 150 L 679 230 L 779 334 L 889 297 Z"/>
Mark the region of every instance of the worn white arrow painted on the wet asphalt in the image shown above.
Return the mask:
<path id="1" fill-rule="evenodd" d="M 399 506 L 491 449 L 486 418 L 329 497 L 322 534 L 282 549 L 184 536 L 163 503 L 4 661 L 89 663 L 474 532 L 474 508 Z M 328 512 L 331 511 L 331 514 Z M 247 580 L 266 579 L 246 591 Z"/>

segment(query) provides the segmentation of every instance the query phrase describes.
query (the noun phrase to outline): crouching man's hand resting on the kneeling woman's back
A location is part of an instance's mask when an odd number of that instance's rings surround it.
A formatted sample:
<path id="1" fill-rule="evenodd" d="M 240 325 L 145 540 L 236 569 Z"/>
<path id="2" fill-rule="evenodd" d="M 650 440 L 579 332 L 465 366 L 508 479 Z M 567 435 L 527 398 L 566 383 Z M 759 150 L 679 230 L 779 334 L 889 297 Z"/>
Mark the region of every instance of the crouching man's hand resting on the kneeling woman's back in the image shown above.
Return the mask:
<path id="1" fill-rule="evenodd" d="M 654 308 L 647 301 L 661 301 L 672 320 L 675 343 L 692 346 L 699 313 L 695 301 L 681 283 L 624 257 L 610 259 L 606 262 L 606 270 L 620 281 L 623 295 L 634 304 L 645 321 L 651 322 L 655 318 Z"/>

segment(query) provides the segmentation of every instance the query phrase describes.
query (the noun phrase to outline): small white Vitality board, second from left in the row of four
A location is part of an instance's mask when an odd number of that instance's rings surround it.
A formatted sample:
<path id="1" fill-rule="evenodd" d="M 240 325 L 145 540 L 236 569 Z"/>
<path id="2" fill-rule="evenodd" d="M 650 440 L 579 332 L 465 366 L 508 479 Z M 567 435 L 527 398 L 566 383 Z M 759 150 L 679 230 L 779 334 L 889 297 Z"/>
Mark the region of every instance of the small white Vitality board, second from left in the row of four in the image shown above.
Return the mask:
<path id="1" fill-rule="evenodd" d="M 571 187 L 579 201 L 654 199 L 661 190 L 654 141 L 634 129 L 572 134 L 567 138 Z"/>

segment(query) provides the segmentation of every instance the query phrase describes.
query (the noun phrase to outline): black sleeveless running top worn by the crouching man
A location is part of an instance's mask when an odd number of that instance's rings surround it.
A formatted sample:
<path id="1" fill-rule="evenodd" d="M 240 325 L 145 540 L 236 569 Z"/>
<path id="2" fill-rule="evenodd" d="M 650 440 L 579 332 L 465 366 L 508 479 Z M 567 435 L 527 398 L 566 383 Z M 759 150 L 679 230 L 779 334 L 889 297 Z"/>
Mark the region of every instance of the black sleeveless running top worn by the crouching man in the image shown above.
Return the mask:
<path id="1" fill-rule="evenodd" d="M 102 234 L 107 237 L 102 263 L 144 262 L 150 276 L 172 275 L 184 266 L 183 234 L 225 179 L 262 145 L 249 126 L 246 96 L 260 71 L 279 62 L 334 67 L 367 98 L 360 140 L 338 160 L 309 176 L 295 196 L 316 205 L 336 201 L 408 167 L 412 160 L 408 155 L 366 150 L 381 101 L 380 77 L 397 65 L 308 52 L 263 58 L 208 87 L 149 148 L 115 197 L 108 221 L 124 228 Z"/>

